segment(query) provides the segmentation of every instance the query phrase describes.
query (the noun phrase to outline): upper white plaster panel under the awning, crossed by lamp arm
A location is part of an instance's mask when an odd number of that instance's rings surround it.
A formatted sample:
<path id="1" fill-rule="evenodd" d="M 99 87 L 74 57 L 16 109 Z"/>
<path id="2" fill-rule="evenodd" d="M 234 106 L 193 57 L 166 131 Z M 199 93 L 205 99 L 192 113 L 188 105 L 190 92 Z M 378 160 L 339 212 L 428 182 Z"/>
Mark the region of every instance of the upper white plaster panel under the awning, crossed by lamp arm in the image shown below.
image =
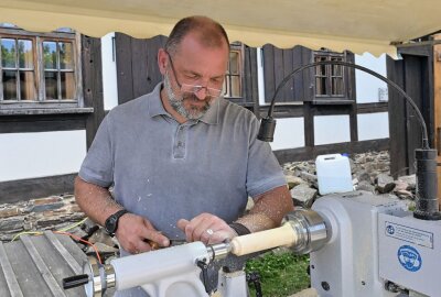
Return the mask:
<path id="1" fill-rule="evenodd" d="M 364 66 L 386 77 L 386 55 L 375 57 L 369 53 L 355 55 L 355 64 Z M 387 101 L 387 85 L 383 80 L 364 73 L 355 70 L 356 101 L 357 103 L 372 103 L 381 100 Z M 383 95 L 380 95 L 383 90 Z"/>

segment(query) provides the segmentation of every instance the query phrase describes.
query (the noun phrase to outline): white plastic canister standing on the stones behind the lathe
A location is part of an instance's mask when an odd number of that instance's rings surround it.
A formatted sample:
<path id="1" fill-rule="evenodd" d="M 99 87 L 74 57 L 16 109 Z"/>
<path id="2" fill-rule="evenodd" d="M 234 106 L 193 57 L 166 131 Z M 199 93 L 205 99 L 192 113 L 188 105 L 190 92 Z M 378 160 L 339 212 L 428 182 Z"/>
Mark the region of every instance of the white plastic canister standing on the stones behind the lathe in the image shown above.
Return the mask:
<path id="1" fill-rule="evenodd" d="M 351 164 L 341 154 L 320 155 L 315 158 L 320 195 L 344 193 L 354 189 Z"/>

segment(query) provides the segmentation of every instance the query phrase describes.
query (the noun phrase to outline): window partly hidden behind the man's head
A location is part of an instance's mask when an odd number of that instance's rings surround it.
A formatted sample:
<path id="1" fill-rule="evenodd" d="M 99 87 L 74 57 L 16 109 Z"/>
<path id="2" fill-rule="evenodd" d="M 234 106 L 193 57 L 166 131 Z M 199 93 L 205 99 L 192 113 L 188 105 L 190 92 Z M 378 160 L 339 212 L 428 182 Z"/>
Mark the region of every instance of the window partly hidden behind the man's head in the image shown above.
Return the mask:
<path id="1" fill-rule="evenodd" d="M 229 51 L 228 69 L 225 74 L 224 97 L 241 98 L 243 97 L 243 50 L 240 45 L 232 45 Z"/>

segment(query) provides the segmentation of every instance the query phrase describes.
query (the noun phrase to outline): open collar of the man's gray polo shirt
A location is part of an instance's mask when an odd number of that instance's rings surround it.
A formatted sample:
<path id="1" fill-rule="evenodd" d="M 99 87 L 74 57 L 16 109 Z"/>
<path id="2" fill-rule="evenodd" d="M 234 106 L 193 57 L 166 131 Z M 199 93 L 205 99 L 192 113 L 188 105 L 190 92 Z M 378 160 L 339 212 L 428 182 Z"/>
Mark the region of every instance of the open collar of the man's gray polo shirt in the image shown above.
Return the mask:
<path id="1" fill-rule="evenodd" d="M 165 111 L 164 107 L 162 106 L 161 101 L 161 89 L 162 89 L 162 82 L 158 84 L 153 91 L 151 92 L 151 96 L 149 98 L 149 116 L 150 118 L 157 117 L 157 116 L 169 116 L 170 113 Z M 204 122 L 206 124 L 217 124 L 218 123 L 218 118 L 219 118 L 219 102 L 222 98 L 216 98 L 214 102 L 212 103 L 212 107 L 208 109 L 208 111 L 200 119 L 201 122 Z"/>

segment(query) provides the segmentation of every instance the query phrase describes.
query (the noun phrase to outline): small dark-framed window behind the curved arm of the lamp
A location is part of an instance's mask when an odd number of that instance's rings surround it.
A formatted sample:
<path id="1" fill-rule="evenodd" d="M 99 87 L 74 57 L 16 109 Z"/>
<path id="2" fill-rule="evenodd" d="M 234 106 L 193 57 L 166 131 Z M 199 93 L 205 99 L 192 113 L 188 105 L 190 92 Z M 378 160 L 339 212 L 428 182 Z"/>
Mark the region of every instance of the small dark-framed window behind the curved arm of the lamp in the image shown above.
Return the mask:
<path id="1" fill-rule="evenodd" d="M 344 54 L 329 51 L 314 52 L 314 62 L 345 61 Z M 315 101 L 348 100 L 347 69 L 341 65 L 319 65 L 314 70 L 314 97 Z"/>

